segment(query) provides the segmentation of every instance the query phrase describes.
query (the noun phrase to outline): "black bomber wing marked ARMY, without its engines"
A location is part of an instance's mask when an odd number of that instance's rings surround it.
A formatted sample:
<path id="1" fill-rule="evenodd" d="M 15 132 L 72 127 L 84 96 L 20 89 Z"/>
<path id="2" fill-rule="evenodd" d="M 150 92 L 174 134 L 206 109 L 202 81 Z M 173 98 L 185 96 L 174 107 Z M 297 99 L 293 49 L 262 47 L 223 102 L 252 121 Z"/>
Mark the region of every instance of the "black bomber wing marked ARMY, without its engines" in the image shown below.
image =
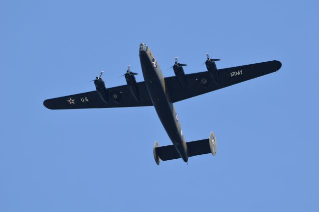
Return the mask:
<path id="1" fill-rule="evenodd" d="M 273 73 L 275 71 L 278 71 L 280 67 L 281 63 L 279 61 L 273 60 L 263 63 L 218 69 L 218 85 L 214 83 L 208 71 L 186 74 L 186 91 L 184 91 L 180 87 L 178 79 L 175 76 L 166 77 L 165 84 L 167 92 L 170 96 L 170 100 L 175 103 L 181 100 L 225 88 L 227 86 L 241 83 L 256 77 Z M 206 81 L 203 81 L 203 79 L 205 79 Z"/>

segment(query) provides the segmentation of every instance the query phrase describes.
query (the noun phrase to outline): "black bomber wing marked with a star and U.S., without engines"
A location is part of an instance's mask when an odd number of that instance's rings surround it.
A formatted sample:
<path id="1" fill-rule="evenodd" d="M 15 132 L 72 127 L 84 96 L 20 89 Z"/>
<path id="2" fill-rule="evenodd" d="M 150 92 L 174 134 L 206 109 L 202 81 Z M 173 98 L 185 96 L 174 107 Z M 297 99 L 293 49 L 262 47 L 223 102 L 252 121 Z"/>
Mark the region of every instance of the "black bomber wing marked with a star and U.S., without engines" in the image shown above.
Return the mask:
<path id="1" fill-rule="evenodd" d="M 131 107 L 131 106 L 153 106 L 145 82 L 138 83 L 140 101 L 132 95 L 127 85 L 108 88 L 109 101 L 106 104 L 97 91 L 69 95 L 45 100 L 43 105 L 49 109 L 83 109 L 83 108 L 107 108 L 107 107 Z M 117 103 L 112 100 L 112 94 L 116 92 L 119 96 Z"/>

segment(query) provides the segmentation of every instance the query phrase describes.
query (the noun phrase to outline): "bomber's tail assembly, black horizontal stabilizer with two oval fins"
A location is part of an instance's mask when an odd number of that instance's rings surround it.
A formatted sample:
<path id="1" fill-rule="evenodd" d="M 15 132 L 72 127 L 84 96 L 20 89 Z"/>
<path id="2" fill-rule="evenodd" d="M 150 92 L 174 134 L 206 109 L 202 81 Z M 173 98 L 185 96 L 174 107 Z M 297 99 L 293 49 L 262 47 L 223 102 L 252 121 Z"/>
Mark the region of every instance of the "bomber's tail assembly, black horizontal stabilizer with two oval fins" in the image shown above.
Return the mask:
<path id="1" fill-rule="evenodd" d="M 214 156 L 216 155 L 217 141 L 213 132 L 210 133 L 210 136 L 207 139 L 186 142 L 186 145 L 188 157 L 208 153 L 212 153 Z M 154 146 L 154 158 L 159 165 L 159 159 L 162 161 L 173 160 L 180 158 L 180 155 L 174 145 L 159 146 L 156 141 L 156 145 Z"/>

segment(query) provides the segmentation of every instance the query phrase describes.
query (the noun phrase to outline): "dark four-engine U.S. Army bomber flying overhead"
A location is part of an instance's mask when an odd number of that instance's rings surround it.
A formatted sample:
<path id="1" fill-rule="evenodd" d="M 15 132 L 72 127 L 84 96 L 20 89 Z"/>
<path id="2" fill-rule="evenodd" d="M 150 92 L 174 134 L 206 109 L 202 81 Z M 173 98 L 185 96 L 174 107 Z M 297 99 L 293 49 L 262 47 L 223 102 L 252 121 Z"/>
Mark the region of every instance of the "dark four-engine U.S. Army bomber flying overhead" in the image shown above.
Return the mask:
<path id="1" fill-rule="evenodd" d="M 43 105 L 49 109 L 154 106 L 173 143 L 160 146 L 158 141 L 155 141 L 153 154 L 157 165 L 160 165 L 160 160 L 182 158 L 187 163 L 188 158 L 192 156 L 209 153 L 215 156 L 217 140 L 213 132 L 210 132 L 209 138 L 206 139 L 185 141 L 174 103 L 276 72 L 282 64 L 280 61 L 273 60 L 217 69 L 215 61 L 220 59 L 212 59 L 208 53 L 206 56 L 207 71 L 185 74 L 183 67 L 186 64 L 178 63 L 176 57 L 171 67 L 175 76 L 164 77 L 149 46 L 141 43 L 139 57 L 144 82 L 136 82 L 137 73 L 132 72 L 129 66 L 123 75 L 127 85 L 106 88 L 101 78 L 102 71 L 93 80 L 96 91 L 48 99 L 43 102 Z"/>

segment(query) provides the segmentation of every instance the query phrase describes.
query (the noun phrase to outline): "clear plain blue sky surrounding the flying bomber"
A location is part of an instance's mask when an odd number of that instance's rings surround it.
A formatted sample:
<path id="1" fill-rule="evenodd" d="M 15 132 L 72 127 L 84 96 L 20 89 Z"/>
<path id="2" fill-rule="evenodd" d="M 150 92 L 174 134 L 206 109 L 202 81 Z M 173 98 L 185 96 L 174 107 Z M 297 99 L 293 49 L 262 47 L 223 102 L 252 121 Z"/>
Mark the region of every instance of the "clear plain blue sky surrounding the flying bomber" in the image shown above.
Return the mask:
<path id="1" fill-rule="evenodd" d="M 0 1 L 0 212 L 319 211 L 318 1 Z M 161 162 L 154 107 L 49 110 L 107 87 L 146 42 L 164 76 L 279 60 L 273 74 L 175 104 L 215 157 Z"/>

